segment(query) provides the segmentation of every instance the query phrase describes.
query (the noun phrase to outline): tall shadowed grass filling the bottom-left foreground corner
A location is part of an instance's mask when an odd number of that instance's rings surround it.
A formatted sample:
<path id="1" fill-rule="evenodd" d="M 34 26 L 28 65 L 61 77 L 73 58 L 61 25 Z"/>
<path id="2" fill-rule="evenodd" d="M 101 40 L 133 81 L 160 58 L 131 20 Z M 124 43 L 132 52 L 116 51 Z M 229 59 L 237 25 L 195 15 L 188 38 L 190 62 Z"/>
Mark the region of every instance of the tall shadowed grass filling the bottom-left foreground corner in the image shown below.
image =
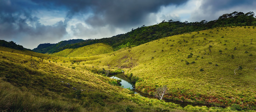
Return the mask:
<path id="1" fill-rule="evenodd" d="M 0 110 L 6 112 L 85 111 L 78 103 L 38 97 L 0 80 Z"/>

